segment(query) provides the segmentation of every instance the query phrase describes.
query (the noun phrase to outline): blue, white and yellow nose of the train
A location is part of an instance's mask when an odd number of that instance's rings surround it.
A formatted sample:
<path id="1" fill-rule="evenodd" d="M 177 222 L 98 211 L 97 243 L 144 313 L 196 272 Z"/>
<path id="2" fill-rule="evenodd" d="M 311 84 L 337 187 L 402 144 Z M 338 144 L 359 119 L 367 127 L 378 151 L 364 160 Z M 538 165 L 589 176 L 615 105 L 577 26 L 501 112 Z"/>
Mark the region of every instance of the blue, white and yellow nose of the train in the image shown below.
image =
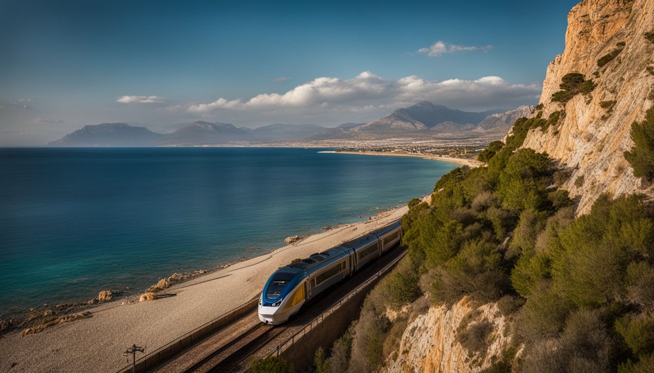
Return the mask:
<path id="1" fill-rule="evenodd" d="M 259 319 L 278 325 L 300 310 L 307 300 L 307 272 L 300 268 L 284 267 L 266 282 L 259 298 Z"/>

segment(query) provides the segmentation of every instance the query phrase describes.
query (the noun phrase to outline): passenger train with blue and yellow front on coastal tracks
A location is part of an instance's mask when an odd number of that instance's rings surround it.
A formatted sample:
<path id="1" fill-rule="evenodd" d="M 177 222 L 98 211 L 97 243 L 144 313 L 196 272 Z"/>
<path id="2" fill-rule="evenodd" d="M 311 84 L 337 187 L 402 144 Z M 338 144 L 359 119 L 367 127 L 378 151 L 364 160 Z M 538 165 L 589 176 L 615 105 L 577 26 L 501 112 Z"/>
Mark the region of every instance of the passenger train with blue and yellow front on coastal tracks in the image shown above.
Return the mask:
<path id="1" fill-rule="evenodd" d="M 381 257 L 402 240 L 400 220 L 354 240 L 279 268 L 259 297 L 262 323 L 279 325 L 297 314 L 307 300 Z"/>

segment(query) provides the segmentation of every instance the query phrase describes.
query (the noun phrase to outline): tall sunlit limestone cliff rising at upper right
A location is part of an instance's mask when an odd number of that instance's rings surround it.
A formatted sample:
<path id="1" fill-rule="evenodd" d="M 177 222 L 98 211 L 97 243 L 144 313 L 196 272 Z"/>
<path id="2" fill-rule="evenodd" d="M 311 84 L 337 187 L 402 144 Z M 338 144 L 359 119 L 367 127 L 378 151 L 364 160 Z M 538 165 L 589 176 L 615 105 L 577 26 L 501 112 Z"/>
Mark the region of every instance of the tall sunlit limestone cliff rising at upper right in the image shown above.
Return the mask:
<path id="1" fill-rule="evenodd" d="M 644 37 L 652 30 L 654 0 L 583 0 L 568 14 L 566 48 L 547 67 L 540 98 L 543 118 L 562 110 L 565 116 L 545 132 L 532 129 L 523 147 L 547 152 L 574 169 L 563 188 L 579 197 L 577 214 L 588 212 L 601 193 L 652 193 L 623 155 L 632 146 L 631 123 L 642 120 L 653 105 L 647 95 L 654 89 L 654 44 Z M 619 49 L 617 57 L 598 67 L 600 57 Z M 592 78 L 597 84 L 592 97 L 579 94 L 566 105 L 552 102 L 568 73 Z"/>

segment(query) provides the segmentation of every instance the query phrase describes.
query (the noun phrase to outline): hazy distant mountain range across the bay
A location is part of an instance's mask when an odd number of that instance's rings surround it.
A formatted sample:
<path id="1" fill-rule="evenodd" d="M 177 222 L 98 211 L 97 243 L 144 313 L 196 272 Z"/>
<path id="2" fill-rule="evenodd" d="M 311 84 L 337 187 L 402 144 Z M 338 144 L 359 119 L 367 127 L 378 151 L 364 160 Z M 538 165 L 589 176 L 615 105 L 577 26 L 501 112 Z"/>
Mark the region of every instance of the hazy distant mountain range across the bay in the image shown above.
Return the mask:
<path id="1" fill-rule="evenodd" d="M 236 127 L 231 123 L 197 121 L 173 133 L 155 133 L 145 127 L 126 123 L 85 125 L 51 146 L 196 146 L 228 144 L 230 142 L 281 142 L 298 140 L 331 140 L 339 138 L 370 138 L 384 135 L 411 136 L 456 134 L 476 137 L 479 133 L 503 136 L 510 124 L 533 110 L 521 106 L 498 113 L 465 112 L 421 101 L 407 108 L 398 108 L 383 118 L 368 123 L 343 123 L 328 128 L 313 124 L 264 125 L 255 129 Z"/>

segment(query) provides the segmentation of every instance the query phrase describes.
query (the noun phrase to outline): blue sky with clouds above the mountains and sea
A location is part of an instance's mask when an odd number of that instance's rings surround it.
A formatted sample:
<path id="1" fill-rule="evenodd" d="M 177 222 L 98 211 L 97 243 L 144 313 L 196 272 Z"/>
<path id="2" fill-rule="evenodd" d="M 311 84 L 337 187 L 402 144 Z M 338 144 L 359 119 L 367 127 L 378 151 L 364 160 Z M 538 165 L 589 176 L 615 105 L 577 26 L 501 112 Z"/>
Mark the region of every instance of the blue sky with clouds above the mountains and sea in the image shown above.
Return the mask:
<path id="1" fill-rule="evenodd" d="M 534 105 L 576 3 L 0 0 L 0 146 Z"/>

